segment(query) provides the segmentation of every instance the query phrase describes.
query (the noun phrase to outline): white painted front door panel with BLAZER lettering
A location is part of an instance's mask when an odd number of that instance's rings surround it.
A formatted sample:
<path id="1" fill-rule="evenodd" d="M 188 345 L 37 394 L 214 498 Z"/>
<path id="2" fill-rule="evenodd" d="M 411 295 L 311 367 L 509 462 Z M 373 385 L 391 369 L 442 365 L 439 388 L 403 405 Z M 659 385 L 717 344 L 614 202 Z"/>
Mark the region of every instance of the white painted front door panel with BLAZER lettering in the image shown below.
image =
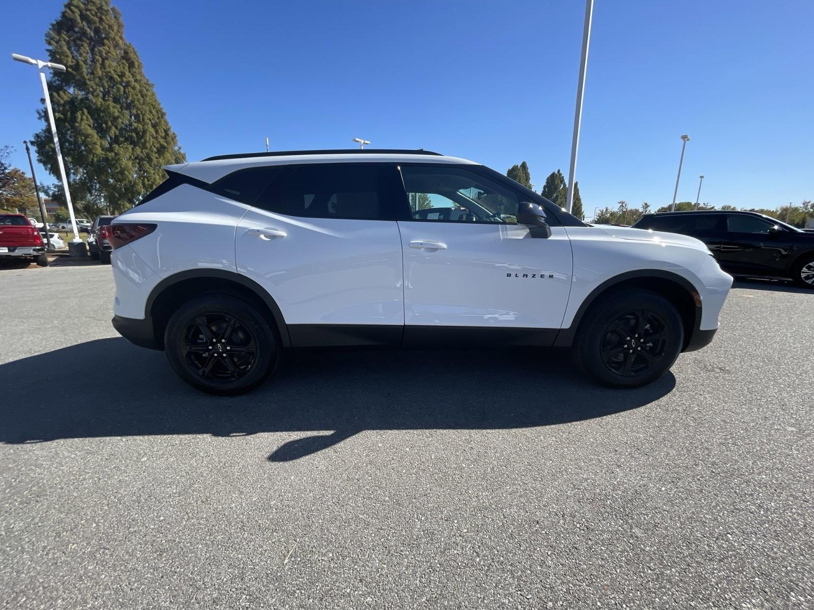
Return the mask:
<path id="1" fill-rule="evenodd" d="M 402 221 L 399 229 L 406 325 L 560 328 L 571 288 L 562 227 L 549 239 L 519 224 Z"/>

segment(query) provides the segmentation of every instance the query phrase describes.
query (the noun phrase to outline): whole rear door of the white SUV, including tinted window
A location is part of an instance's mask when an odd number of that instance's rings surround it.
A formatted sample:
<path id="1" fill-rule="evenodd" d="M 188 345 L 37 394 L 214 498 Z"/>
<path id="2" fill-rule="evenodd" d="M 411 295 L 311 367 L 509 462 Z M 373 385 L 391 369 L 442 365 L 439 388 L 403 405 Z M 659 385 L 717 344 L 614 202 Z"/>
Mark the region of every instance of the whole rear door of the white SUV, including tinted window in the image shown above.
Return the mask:
<path id="1" fill-rule="evenodd" d="M 278 168 L 240 220 L 238 271 L 275 299 L 295 345 L 400 342 L 401 244 L 385 169 Z"/>

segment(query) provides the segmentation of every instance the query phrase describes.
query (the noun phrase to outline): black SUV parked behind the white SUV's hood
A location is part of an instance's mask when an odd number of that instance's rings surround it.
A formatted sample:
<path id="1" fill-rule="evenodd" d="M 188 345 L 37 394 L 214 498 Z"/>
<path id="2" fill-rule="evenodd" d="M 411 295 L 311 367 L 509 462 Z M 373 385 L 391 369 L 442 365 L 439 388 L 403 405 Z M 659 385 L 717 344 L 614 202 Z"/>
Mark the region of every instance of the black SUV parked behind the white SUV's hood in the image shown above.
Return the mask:
<path id="1" fill-rule="evenodd" d="M 696 237 L 733 275 L 787 277 L 814 288 L 814 233 L 771 216 L 754 211 L 668 211 L 646 214 L 633 226 Z"/>

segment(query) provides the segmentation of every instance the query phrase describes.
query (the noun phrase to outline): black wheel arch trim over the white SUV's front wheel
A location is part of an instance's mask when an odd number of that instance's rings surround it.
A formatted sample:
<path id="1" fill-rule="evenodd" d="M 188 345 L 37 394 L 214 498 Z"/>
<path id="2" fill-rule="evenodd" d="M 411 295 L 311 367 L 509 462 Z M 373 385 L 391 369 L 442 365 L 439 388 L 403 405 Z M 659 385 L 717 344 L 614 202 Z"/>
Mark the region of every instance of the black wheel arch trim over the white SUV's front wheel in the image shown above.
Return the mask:
<path id="1" fill-rule="evenodd" d="M 687 278 L 660 269 L 642 269 L 620 273 L 618 276 L 611 277 L 603 281 L 602 284 L 597 285 L 584 298 L 580 308 L 576 310 L 571 326 L 567 329 L 561 329 L 557 334 L 554 346 L 571 346 L 576 337 L 576 331 L 580 328 L 580 323 L 591 306 L 598 303 L 607 294 L 625 288 L 652 290 L 657 294 L 662 294 L 676 305 L 685 327 L 684 344 L 681 349 L 682 351 L 686 350 L 692 341 L 693 334 L 698 331 L 701 325 L 702 305 L 698 290 Z"/>

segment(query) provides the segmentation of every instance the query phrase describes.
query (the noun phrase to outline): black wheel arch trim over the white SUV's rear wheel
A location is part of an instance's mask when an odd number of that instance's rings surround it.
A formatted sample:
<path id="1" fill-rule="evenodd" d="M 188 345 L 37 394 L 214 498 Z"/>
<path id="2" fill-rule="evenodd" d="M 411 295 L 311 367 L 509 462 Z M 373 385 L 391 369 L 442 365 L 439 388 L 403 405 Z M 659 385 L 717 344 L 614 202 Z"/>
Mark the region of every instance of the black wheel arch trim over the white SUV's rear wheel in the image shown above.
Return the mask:
<path id="1" fill-rule="evenodd" d="M 208 292 L 235 294 L 255 304 L 260 312 L 277 326 L 282 345 L 291 346 L 288 327 L 280 307 L 268 291 L 256 281 L 223 269 L 188 269 L 165 277 L 155 285 L 147 297 L 144 316 L 152 320 L 155 342 L 160 349 L 164 348 L 164 329 L 174 307 L 193 296 Z"/>

